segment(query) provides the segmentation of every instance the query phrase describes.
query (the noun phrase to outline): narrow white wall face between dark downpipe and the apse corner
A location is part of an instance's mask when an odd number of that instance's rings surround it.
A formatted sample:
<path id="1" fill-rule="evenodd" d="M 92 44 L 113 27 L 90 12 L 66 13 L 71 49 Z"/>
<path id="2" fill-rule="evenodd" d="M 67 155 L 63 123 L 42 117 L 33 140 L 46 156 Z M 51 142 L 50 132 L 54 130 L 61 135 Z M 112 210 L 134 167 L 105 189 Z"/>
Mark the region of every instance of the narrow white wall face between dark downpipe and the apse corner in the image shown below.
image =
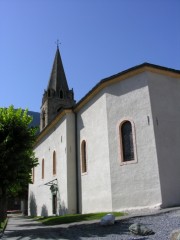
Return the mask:
<path id="1" fill-rule="evenodd" d="M 111 183 L 106 98 L 103 91 L 77 113 L 79 202 L 82 213 L 111 211 Z M 87 172 L 81 171 L 81 143 L 86 141 Z"/>

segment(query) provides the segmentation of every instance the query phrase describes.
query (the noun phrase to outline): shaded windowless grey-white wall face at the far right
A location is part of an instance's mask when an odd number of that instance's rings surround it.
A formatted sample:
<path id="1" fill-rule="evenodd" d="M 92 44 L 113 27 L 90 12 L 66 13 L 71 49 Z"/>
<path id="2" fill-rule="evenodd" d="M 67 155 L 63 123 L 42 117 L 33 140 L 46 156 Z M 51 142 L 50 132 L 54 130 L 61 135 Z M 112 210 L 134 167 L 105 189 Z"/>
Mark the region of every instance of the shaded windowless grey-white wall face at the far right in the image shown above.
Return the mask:
<path id="1" fill-rule="evenodd" d="M 149 73 L 162 206 L 180 204 L 180 78 Z"/>

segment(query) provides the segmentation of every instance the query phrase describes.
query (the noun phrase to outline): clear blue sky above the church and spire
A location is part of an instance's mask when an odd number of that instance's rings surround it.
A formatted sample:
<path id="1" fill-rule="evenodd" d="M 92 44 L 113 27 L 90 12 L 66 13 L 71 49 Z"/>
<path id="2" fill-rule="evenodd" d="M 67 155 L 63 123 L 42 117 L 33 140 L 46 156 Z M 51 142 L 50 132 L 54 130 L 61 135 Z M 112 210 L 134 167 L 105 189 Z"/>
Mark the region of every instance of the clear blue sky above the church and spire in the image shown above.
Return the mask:
<path id="1" fill-rule="evenodd" d="M 180 70 L 180 0 L 0 0 L 0 107 L 40 111 L 57 39 L 77 101 L 144 62 Z"/>

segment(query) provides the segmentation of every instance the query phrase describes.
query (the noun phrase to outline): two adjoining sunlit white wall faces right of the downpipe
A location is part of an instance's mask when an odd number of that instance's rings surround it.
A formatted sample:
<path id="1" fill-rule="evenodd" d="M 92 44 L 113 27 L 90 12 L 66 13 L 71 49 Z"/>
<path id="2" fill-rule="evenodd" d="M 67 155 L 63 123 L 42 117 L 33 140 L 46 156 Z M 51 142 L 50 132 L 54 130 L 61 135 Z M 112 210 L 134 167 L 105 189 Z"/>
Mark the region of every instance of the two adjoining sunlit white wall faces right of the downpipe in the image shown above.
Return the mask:
<path id="1" fill-rule="evenodd" d="M 141 73 L 104 88 L 77 114 L 78 162 L 80 144 L 87 143 L 87 173 L 80 173 L 82 212 L 118 211 L 162 203 L 153 117 L 147 85 Z M 119 125 L 135 127 L 137 162 L 120 161 Z"/>

